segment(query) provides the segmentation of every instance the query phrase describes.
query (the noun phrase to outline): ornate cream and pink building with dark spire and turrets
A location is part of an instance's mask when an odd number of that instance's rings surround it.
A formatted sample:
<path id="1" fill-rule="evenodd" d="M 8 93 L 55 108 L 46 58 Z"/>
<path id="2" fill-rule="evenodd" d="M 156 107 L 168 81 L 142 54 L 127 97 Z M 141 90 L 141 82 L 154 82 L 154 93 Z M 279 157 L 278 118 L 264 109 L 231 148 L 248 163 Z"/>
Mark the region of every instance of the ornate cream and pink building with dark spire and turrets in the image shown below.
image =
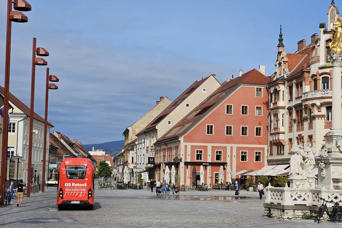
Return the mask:
<path id="1" fill-rule="evenodd" d="M 268 164 L 289 164 L 292 143 L 310 143 L 319 154 L 332 120 L 331 28 L 339 10 L 328 7 L 328 24 L 319 24 L 319 33 L 310 44 L 302 39 L 297 51 L 286 53 L 280 28 L 275 73 L 268 84 L 269 142 Z"/>

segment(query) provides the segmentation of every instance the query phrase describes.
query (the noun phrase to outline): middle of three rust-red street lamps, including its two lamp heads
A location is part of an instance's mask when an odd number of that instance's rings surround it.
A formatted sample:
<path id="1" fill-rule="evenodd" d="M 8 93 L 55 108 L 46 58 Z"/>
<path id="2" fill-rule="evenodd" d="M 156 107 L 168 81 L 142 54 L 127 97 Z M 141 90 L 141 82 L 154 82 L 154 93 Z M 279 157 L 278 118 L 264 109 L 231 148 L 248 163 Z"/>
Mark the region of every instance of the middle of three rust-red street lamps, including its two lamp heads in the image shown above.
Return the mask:
<path id="1" fill-rule="evenodd" d="M 32 165 L 32 140 L 33 140 L 33 120 L 34 120 L 34 83 L 36 74 L 36 65 L 46 66 L 48 63 L 43 58 L 38 56 L 49 56 L 49 52 L 42 47 L 36 48 L 37 38 L 33 37 L 32 45 L 32 75 L 31 75 L 31 104 L 30 104 L 30 126 L 29 126 L 29 139 L 28 139 L 28 162 L 27 162 L 27 197 L 30 197 L 31 185 L 31 165 Z"/>

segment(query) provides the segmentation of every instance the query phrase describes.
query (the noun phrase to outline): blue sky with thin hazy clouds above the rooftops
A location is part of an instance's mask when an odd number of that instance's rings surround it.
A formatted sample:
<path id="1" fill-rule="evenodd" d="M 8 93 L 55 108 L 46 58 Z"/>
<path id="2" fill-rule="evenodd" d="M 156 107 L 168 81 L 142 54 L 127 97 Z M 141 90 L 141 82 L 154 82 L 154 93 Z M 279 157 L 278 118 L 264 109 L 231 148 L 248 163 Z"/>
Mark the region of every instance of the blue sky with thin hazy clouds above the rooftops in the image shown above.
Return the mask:
<path id="1" fill-rule="evenodd" d="M 55 130 L 84 143 L 123 139 L 124 129 L 160 96 L 175 99 L 193 81 L 220 82 L 260 64 L 274 72 L 279 25 L 285 50 L 319 33 L 331 0 L 28 0 L 29 22 L 12 23 L 10 92 L 29 105 L 32 37 L 45 47 Z M 0 85 L 5 52 L 0 1 Z M 341 6 L 342 0 L 335 0 Z M 44 116 L 45 67 L 36 67 L 35 112 Z"/>

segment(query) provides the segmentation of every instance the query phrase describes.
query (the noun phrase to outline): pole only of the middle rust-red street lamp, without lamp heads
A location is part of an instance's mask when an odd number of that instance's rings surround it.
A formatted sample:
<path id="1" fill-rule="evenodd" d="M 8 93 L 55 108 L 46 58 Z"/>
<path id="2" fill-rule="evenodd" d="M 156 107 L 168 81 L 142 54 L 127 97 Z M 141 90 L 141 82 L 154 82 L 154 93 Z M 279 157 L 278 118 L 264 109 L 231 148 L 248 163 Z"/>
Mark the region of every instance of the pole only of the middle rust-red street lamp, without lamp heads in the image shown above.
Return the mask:
<path id="1" fill-rule="evenodd" d="M 33 119 L 34 119 L 34 82 L 36 65 L 34 60 L 36 58 L 36 37 L 33 37 L 32 45 L 32 75 L 31 75 L 31 105 L 30 105 L 30 127 L 29 127 L 29 138 L 28 138 L 28 163 L 27 163 L 27 197 L 30 197 L 30 186 L 31 186 L 31 166 L 32 166 L 32 139 L 33 139 Z"/>

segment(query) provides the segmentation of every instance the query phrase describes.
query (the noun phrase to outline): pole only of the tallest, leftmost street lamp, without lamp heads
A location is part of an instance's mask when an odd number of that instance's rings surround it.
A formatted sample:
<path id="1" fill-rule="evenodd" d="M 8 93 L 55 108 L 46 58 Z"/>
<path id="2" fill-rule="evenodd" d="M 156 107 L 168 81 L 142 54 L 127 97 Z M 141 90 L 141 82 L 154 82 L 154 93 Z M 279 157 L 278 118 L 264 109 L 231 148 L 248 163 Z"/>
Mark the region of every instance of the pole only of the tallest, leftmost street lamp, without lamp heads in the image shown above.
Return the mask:
<path id="1" fill-rule="evenodd" d="M 7 160 L 7 137 L 8 137 L 8 96 L 9 96 L 9 69 L 10 69 L 10 43 L 11 43 L 11 21 L 9 13 L 12 10 L 12 1 L 7 0 L 7 27 L 6 27 L 6 57 L 5 57 L 5 80 L 4 80 L 4 101 L 2 121 L 2 150 L 1 150 L 1 178 L 0 194 L 4 200 L 4 189 L 6 181 L 6 160 Z"/>

